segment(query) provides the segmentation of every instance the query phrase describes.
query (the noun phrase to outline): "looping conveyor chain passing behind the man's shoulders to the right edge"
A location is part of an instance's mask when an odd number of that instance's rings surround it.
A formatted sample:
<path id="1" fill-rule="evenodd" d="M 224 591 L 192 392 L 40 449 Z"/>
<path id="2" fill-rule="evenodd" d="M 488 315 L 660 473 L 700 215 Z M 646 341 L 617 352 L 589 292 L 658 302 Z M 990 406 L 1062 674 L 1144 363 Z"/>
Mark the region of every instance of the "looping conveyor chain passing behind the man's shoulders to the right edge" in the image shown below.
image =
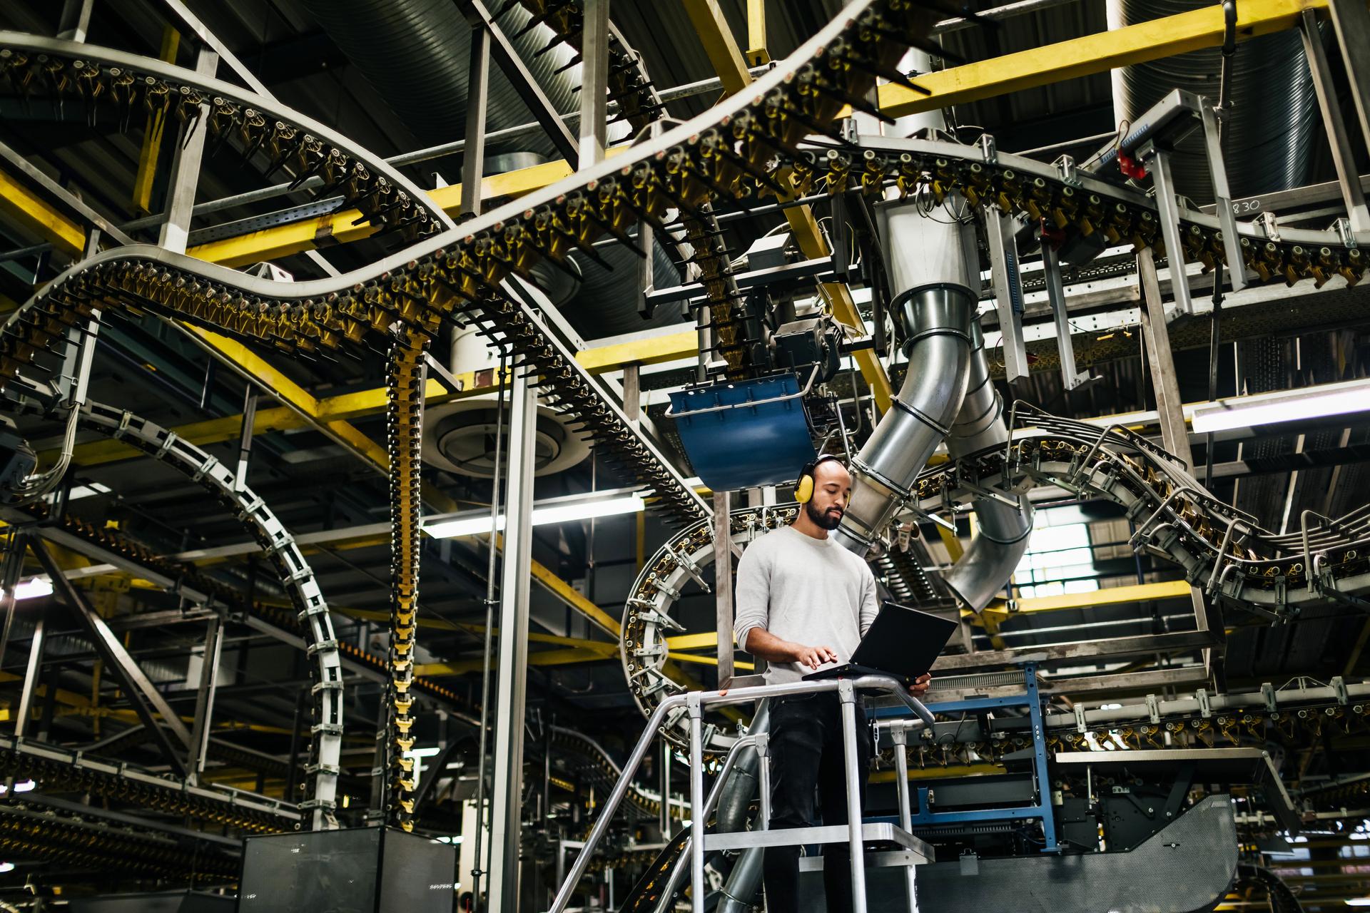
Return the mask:
<path id="1" fill-rule="evenodd" d="M 1019 420 L 1021 419 L 1021 420 Z M 1018 426 L 1030 422 L 1033 428 Z M 1306 606 L 1366 606 L 1370 593 L 1370 509 L 1360 508 L 1302 532 L 1274 535 L 1254 517 L 1211 497 L 1175 457 L 1125 428 L 1059 419 L 1019 402 L 1007 448 L 973 453 L 923 471 L 910 506 L 925 513 L 962 509 L 985 491 L 1007 496 L 1059 486 L 1080 497 L 1122 506 L 1134 523 L 1132 545 L 1169 558 L 1185 579 L 1238 609 L 1270 620 L 1296 619 Z M 755 537 L 793 519 L 793 506 L 733 512 L 734 539 Z M 696 523 L 666 542 L 644 565 L 623 609 L 621 653 L 629 690 L 644 715 L 681 690 L 664 673 L 666 638 L 680 631 L 671 608 L 700 568 L 712 563 L 710 523 Z M 1314 567 L 1311 576 L 1307 568 Z M 667 720 L 677 745 L 686 720 Z M 726 743 L 717 730 L 712 747 Z M 719 741 L 722 739 L 722 741 Z"/>

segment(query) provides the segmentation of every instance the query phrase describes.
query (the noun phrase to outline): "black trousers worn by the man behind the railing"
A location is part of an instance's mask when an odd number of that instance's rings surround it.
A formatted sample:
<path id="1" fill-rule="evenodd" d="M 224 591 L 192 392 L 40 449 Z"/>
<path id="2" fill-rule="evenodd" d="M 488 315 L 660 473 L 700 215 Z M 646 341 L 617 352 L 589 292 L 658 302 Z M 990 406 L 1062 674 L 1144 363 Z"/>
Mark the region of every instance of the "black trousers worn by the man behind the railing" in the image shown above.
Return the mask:
<path id="1" fill-rule="evenodd" d="M 775 698 L 770 719 L 771 830 L 814 824 L 815 795 L 825 825 L 847 824 L 847 762 L 837 694 L 825 691 Z M 856 754 L 864 812 L 871 739 L 859 701 Z M 769 847 L 762 880 L 766 886 L 766 913 L 799 913 L 797 846 Z M 845 840 L 823 845 L 823 891 L 827 913 L 851 913 L 851 847 Z"/>

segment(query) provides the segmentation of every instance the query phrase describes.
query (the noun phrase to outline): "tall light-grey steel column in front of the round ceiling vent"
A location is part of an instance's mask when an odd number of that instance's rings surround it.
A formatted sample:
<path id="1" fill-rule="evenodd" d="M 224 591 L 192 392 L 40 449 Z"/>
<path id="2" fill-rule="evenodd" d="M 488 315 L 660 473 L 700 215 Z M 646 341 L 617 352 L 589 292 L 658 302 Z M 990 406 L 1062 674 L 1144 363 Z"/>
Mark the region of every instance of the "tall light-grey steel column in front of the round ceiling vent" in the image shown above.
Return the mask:
<path id="1" fill-rule="evenodd" d="M 510 385 L 508 487 L 500 575 L 500 676 L 496 687 L 495 790 L 490 809 L 492 913 L 518 909 L 518 847 L 523 795 L 523 712 L 527 683 L 527 597 L 533 550 L 533 461 L 537 397 L 529 365 Z"/>

